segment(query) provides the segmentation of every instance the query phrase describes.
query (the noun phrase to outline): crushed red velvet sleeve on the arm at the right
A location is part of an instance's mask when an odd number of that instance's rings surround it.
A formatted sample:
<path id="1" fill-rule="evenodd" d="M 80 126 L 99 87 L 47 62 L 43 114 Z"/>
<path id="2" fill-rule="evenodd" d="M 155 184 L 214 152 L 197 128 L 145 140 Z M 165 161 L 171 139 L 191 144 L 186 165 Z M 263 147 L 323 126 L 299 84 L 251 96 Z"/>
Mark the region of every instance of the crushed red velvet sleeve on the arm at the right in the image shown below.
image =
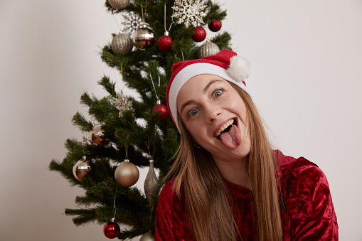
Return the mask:
<path id="1" fill-rule="evenodd" d="M 283 186 L 284 206 L 290 218 L 284 222 L 284 229 L 289 229 L 290 240 L 339 239 L 329 184 L 318 166 L 294 169 Z"/>

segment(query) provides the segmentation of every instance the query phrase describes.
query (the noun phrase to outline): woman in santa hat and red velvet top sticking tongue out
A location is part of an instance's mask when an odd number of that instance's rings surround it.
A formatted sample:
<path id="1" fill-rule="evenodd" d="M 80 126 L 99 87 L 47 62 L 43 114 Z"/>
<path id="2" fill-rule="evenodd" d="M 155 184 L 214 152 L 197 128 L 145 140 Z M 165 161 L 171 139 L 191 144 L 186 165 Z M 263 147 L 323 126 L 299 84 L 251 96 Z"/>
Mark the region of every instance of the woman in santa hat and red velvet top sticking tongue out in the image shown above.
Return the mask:
<path id="1" fill-rule="evenodd" d="M 221 50 L 175 63 L 167 105 L 181 143 L 156 240 L 338 240 L 324 173 L 273 151 L 247 93 L 247 60 Z"/>

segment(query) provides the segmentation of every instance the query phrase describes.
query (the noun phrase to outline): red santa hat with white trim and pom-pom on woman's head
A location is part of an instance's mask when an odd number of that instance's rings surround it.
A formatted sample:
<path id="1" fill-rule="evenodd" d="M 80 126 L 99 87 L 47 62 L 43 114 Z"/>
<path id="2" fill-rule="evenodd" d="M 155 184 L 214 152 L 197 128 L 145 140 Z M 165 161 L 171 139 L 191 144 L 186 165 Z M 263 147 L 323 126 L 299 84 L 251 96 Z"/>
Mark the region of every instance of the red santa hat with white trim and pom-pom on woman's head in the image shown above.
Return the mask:
<path id="1" fill-rule="evenodd" d="M 223 49 L 215 55 L 197 60 L 174 63 L 172 66 L 172 76 L 167 86 L 166 98 L 171 119 L 174 121 L 177 129 L 179 129 L 176 105 L 177 94 L 188 80 L 196 75 L 203 74 L 217 75 L 224 80 L 238 85 L 238 87 L 247 92 L 244 80 L 250 75 L 250 63 L 245 58 L 238 56 L 237 53 L 228 49 Z"/>

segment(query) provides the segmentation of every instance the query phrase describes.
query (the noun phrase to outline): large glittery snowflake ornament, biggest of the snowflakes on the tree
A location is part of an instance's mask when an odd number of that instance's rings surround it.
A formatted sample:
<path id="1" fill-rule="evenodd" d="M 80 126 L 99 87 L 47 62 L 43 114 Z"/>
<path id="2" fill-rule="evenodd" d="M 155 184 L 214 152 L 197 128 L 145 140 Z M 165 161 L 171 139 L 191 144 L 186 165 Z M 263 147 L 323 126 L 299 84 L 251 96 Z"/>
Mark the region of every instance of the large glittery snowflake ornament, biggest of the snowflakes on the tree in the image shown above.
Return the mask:
<path id="1" fill-rule="evenodd" d="M 205 24 L 203 17 L 206 14 L 203 10 L 206 9 L 206 5 L 200 4 L 200 0 L 175 0 L 175 6 L 172 6 L 172 9 L 174 9 L 174 14 L 171 17 L 179 18 L 177 24 L 184 23 L 186 28 L 190 25 L 196 27 L 198 23 Z"/>

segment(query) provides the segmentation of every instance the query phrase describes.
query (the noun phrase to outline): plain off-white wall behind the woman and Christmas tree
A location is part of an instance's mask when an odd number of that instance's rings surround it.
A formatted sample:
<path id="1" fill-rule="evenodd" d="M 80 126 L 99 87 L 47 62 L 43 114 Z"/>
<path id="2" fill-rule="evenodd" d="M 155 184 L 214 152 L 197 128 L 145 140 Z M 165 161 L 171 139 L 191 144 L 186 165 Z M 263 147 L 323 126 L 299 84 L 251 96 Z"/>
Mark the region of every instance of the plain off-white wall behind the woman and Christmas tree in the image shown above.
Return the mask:
<path id="1" fill-rule="evenodd" d="M 362 1 L 223 2 L 275 146 L 319 165 L 340 240 L 362 240 Z M 81 137 L 70 119 L 87 112 L 82 92 L 102 97 L 102 75 L 119 80 L 98 55 L 116 32 L 102 0 L 0 1 L 0 240 L 107 240 L 63 214 L 83 191 L 48 165 Z"/>

